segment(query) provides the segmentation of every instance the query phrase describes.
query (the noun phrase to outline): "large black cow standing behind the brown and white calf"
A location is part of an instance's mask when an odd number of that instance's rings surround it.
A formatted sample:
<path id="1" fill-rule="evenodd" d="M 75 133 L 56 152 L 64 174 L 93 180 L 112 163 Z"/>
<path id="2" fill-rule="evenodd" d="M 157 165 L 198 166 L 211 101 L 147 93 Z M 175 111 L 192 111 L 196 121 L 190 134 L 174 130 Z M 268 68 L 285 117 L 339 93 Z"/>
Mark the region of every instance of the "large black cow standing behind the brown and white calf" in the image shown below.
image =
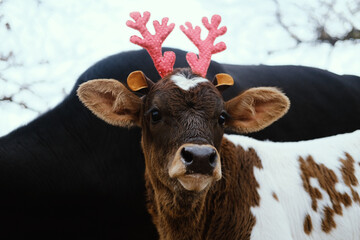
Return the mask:
<path id="1" fill-rule="evenodd" d="M 186 67 L 185 52 L 170 50 L 175 67 Z M 135 70 L 160 79 L 144 50 L 110 56 L 85 71 L 53 110 L 0 138 L 0 239 L 157 238 L 145 208 L 140 130 L 106 124 L 76 96 L 85 81 L 125 82 Z M 216 62 L 207 77 L 222 72 L 236 82 L 225 99 L 254 86 L 277 86 L 290 98 L 289 113 L 255 138 L 296 141 L 360 129 L 359 77 Z"/>

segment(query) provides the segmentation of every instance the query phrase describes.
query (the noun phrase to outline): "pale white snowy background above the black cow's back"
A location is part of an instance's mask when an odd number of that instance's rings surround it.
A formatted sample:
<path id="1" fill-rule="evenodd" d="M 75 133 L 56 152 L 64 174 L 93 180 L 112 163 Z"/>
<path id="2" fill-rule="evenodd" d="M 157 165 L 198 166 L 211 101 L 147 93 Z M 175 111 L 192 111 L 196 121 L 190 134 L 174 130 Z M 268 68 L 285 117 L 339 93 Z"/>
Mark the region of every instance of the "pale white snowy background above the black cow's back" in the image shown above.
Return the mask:
<path id="1" fill-rule="evenodd" d="M 279 3 L 284 22 L 305 40 L 314 39 L 311 24 L 325 21 L 326 9 L 312 0 Z M 335 7 L 349 16 L 349 9 L 360 8 L 360 2 L 342 0 Z M 186 21 L 201 25 L 203 16 L 216 13 L 222 16 L 221 25 L 228 27 L 220 39 L 228 50 L 214 55 L 216 61 L 308 65 L 360 75 L 359 41 L 338 42 L 334 47 L 296 45 L 278 24 L 273 0 L 0 0 L 0 99 L 12 96 L 18 103 L 0 101 L 0 136 L 59 103 L 94 62 L 140 49 L 129 42 L 137 33 L 125 22 L 130 12 L 145 10 L 152 13 L 150 20 L 167 16 L 176 24 L 165 46 L 196 52 L 179 26 Z M 350 20 L 360 28 L 360 13 Z M 326 21 L 333 33 L 342 34 L 350 27 L 336 18 Z"/>

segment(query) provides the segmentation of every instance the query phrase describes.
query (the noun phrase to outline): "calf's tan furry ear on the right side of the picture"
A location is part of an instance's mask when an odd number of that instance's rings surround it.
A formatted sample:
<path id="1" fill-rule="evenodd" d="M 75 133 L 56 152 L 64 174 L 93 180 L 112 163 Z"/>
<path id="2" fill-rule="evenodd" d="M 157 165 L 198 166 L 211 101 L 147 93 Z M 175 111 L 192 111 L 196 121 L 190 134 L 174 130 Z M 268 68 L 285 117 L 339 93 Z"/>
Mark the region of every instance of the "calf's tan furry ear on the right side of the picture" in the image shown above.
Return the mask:
<path id="1" fill-rule="evenodd" d="M 230 115 L 225 126 L 238 133 L 256 132 L 281 118 L 289 106 L 289 99 L 276 88 L 251 88 L 225 103 Z"/>

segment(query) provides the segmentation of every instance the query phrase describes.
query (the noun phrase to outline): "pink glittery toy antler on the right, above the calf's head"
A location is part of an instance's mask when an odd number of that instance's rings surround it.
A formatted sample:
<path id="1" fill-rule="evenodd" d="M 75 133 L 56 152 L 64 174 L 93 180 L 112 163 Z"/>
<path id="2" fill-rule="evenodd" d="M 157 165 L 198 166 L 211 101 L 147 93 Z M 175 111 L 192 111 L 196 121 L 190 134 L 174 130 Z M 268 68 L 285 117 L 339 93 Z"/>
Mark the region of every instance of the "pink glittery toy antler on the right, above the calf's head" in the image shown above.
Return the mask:
<path id="1" fill-rule="evenodd" d="M 194 29 L 189 22 L 185 23 L 188 29 L 186 29 L 183 25 L 180 26 L 181 31 L 183 31 L 199 49 L 199 58 L 195 53 L 188 53 L 186 55 L 186 60 L 188 61 L 192 71 L 202 77 L 206 76 L 206 72 L 211 61 L 211 55 L 226 49 L 224 42 L 214 45 L 215 39 L 218 36 L 224 35 L 227 30 L 225 26 L 218 29 L 220 22 L 221 17 L 219 15 L 212 16 L 211 24 L 209 23 L 207 17 L 203 17 L 202 23 L 209 30 L 209 34 L 205 40 L 200 39 L 200 27 L 196 26 Z"/>

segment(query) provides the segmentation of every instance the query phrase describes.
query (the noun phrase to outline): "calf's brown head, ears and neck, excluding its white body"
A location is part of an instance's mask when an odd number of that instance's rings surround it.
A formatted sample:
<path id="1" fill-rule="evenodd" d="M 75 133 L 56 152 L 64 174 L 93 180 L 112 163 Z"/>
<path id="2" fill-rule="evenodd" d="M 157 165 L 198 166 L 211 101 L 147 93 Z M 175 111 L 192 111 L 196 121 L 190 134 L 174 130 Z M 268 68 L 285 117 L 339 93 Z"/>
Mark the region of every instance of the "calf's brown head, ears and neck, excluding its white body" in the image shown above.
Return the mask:
<path id="1" fill-rule="evenodd" d="M 259 204 L 253 168 L 261 161 L 223 139 L 224 129 L 261 130 L 286 113 L 288 98 L 263 87 L 224 102 L 218 89 L 232 85 L 229 75 L 213 84 L 189 69 L 155 84 L 134 72 L 128 85 L 146 95 L 108 79 L 82 84 L 78 95 L 106 122 L 142 128 L 148 209 L 161 239 L 249 239 L 250 207 Z M 249 161 L 240 162 L 240 153 Z"/>

